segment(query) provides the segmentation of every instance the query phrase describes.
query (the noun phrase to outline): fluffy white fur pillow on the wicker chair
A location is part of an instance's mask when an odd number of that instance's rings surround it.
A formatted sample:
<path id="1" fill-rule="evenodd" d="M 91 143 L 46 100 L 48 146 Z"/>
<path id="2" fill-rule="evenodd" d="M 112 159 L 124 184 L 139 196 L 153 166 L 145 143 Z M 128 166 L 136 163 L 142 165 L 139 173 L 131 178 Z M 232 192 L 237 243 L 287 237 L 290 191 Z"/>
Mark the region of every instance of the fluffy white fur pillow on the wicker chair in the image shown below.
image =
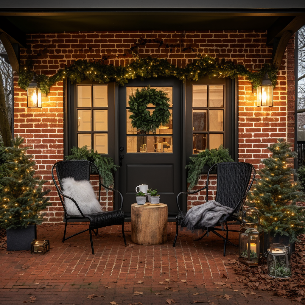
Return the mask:
<path id="1" fill-rule="evenodd" d="M 96 199 L 94 190 L 88 180 L 75 181 L 73 177 L 62 180 L 63 193 L 73 198 L 83 214 L 98 213 L 102 211 L 99 201 Z M 80 215 L 75 203 L 65 198 L 65 207 L 69 215 Z"/>

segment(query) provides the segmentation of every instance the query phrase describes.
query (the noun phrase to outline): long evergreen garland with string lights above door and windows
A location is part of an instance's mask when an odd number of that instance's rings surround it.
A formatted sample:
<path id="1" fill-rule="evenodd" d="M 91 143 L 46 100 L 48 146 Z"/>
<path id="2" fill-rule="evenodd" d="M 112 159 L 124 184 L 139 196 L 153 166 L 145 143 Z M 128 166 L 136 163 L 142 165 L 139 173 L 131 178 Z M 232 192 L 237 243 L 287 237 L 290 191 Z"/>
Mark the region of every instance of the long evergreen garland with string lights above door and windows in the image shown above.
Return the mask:
<path id="1" fill-rule="evenodd" d="M 179 68 L 170 64 L 166 59 L 159 58 L 136 58 L 127 66 L 105 65 L 102 61 L 88 62 L 85 59 L 76 60 L 69 67 L 59 69 L 53 76 L 45 74 L 37 75 L 36 79 L 40 82 L 41 92 L 49 93 L 50 87 L 57 81 L 62 81 L 68 78 L 71 83 L 81 83 L 88 78 L 91 81 L 99 83 L 108 83 L 116 81 L 121 86 L 127 84 L 130 79 L 137 77 L 169 77 L 174 76 L 185 81 L 198 81 L 201 77 L 229 77 L 235 78 L 238 76 L 247 77 L 253 84 L 253 88 L 260 85 L 264 74 L 268 74 L 273 87 L 277 81 L 277 69 L 270 64 L 264 64 L 261 70 L 251 72 L 240 64 L 235 64 L 232 61 L 218 61 L 219 59 L 210 56 L 194 59 L 192 63 L 188 63 L 185 68 Z M 26 61 L 25 65 L 20 69 L 18 85 L 20 88 L 27 90 L 27 86 L 33 78 L 34 72 L 31 71 L 30 61 Z"/>

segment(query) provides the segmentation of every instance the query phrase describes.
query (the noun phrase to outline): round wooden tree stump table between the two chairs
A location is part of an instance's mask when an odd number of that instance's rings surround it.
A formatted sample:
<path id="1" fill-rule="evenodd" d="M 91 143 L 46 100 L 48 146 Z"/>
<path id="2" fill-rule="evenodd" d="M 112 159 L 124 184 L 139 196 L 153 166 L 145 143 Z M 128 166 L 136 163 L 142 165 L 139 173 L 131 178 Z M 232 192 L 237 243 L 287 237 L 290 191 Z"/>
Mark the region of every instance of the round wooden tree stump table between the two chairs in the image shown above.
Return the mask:
<path id="1" fill-rule="evenodd" d="M 167 205 L 131 205 L 131 240 L 138 245 L 167 242 Z"/>

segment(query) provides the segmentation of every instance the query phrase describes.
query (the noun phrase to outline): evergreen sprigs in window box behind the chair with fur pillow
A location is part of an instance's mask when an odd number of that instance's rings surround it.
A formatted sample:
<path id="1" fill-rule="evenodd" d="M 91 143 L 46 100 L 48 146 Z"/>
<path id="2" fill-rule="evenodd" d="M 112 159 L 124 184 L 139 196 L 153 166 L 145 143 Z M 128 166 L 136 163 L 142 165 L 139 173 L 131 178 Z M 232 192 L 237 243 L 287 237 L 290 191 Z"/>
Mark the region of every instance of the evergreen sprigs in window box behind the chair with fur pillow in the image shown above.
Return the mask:
<path id="1" fill-rule="evenodd" d="M 114 164 L 113 159 L 104 157 L 93 149 L 88 149 L 87 145 L 83 147 L 73 147 L 71 154 L 66 156 L 66 160 L 88 160 L 93 162 L 101 174 L 102 183 L 106 186 L 114 185 L 112 171 L 117 171 L 118 165 Z"/>

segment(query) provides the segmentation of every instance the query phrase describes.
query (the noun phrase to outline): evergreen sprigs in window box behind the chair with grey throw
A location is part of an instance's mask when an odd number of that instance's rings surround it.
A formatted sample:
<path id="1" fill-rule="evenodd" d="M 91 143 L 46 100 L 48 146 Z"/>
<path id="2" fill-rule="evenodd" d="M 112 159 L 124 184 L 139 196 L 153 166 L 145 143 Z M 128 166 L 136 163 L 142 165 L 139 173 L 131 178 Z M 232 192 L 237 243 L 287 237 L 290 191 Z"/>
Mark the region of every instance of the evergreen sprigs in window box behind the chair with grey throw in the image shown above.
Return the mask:
<path id="1" fill-rule="evenodd" d="M 224 148 L 223 145 L 220 145 L 218 149 L 205 149 L 196 157 L 190 157 L 191 162 L 185 167 L 188 169 L 188 178 L 187 182 L 190 184 L 188 186 L 188 190 L 192 190 L 192 188 L 197 184 L 198 178 L 201 175 L 203 167 L 208 165 L 211 167 L 213 164 L 219 162 L 234 162 L 229 154 L 229 149 Z"/>

